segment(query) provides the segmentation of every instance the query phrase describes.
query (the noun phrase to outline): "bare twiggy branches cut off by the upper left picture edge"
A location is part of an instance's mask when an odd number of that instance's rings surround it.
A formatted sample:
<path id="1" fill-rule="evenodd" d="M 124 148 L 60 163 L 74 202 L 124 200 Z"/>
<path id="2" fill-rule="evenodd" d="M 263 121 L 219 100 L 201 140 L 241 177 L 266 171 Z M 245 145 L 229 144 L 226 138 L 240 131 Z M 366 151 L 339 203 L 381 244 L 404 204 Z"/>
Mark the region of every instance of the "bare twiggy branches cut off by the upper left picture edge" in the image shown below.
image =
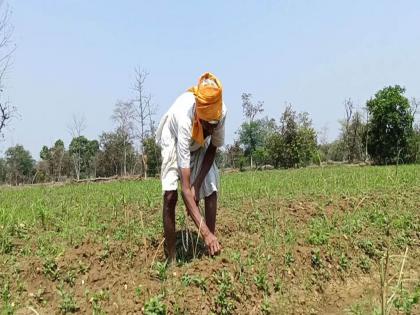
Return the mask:
<path id="1" fill-rule="evenodd" d="M 11 57 L 16 49 L 11 38 L 13 26 L 10 24 L 10 8 L 0 0 L 0 93 L 3 92 L 3 80 L 11 63 Z M 0 102 L 0 134 L 16 113 L 16 108 L 9 102 Z"/>

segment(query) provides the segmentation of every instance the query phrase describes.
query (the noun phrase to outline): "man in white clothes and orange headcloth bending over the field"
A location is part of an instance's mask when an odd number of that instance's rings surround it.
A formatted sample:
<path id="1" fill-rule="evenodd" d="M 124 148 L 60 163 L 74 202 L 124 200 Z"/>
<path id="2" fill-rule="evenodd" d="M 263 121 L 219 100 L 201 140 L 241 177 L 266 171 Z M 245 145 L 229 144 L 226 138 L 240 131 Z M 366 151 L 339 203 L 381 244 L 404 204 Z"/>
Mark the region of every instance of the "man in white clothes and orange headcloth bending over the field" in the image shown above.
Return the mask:
<path id="1" fill-rule="evenodd" d="M 226 107 L 222 84 L 211 73 L 179 96 L 162 117 L 156 140 L 162 150 L 163 225 L 167 254 L 176 259 L 175 206 L 178 180 L 185 206 L 210 255 L 220 252 L 215 236 L 219 174 L 216 149 L 224 144 Z M 204 198 L 205 219 L 198 202 Z"/>

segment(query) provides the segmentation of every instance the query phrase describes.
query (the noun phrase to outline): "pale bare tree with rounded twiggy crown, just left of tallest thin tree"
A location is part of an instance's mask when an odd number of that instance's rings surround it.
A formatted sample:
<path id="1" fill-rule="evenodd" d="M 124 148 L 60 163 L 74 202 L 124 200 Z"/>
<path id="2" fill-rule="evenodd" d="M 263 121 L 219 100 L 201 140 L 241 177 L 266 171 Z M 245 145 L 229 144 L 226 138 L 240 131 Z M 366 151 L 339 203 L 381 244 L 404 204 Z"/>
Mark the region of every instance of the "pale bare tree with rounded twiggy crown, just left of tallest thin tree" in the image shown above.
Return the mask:
<path id="1" fill-rule="evenodd" d="M 118 129 L 123 135 L 123 174 L 127 175 L 127 147 L 133 138 L 134 119 L 136 112 L 133 102 L 118 101 L 115 105 L 112 119 L 118 124 Z"/>

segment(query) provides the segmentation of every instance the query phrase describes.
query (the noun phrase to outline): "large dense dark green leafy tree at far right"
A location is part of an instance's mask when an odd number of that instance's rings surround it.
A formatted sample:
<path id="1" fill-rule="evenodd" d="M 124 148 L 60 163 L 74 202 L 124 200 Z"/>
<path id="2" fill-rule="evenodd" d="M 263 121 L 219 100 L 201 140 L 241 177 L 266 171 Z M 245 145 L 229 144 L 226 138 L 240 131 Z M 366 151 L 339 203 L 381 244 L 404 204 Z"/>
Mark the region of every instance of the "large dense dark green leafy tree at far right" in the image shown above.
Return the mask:
<path id="1" fill-rule="evenodd" d="M 405 89 L 389 86 L 367 101 L 369 111 L 368 152 L 376 164 L 409 160 L 409 139 L 414 116 Z"/>

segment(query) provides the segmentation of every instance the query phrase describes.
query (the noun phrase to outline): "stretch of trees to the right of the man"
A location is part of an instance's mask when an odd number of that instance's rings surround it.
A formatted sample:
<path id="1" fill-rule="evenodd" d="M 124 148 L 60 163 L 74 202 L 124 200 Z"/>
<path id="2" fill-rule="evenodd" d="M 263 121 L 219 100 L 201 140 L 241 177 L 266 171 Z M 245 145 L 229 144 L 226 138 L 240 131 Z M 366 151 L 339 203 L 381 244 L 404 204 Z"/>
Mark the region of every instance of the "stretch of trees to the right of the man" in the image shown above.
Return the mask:
<path id="1" fill-rule="evenodd" d="M 418 102 L 399 85 L 378 91 L 363 111 L 344 101 L 340 134 L 328 142 L 325 130 L 316 132 L 306 112 L 286 104 L 279 119 L 258 118 L 264 103 L 242 94 L 245 121 L 237 139 L 219 155 L 219 164 L 240 168 L 291 168 L 333 162 L 376 165 L 420 162 L 420 125 L 415 123 Z"/>

